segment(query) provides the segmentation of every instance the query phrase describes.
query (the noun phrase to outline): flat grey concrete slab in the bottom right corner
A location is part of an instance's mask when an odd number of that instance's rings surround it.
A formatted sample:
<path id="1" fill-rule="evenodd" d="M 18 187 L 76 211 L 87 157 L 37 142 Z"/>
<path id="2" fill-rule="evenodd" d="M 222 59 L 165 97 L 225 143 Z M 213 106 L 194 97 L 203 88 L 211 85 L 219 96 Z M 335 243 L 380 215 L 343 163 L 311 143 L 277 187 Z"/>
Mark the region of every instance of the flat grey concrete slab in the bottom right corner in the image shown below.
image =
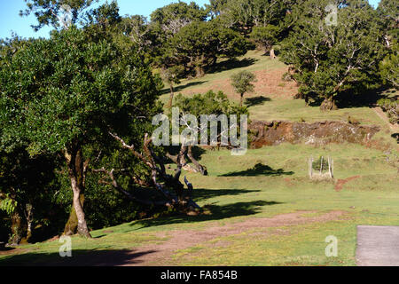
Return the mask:
<path id="1" fill-rule="evenodd" d="M 357 226 L 358 266 L 399 266 L 399 226 Z"/>

